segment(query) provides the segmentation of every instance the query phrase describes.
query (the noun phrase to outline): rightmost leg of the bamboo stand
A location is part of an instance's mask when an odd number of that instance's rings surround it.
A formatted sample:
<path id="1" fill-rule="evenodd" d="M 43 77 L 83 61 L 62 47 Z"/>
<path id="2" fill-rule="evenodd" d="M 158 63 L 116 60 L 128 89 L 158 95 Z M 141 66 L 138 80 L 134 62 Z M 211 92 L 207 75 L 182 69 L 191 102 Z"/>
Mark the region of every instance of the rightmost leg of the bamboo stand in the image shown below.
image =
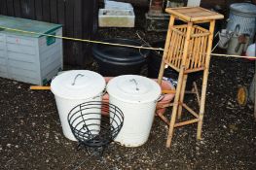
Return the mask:
<path id="1" fill-rule="evenodd" d="M 205 69 L 203 71 L 203 78 L 202 78 L 202 85 L 201 85 L 201 104 L 200 104 L 200 121 L 198 123 L 198 130 L 197 130 L 197 139 L 201 139 L 201 127 L 202 127 L 202 119 L 204 114 L 204 106 L 205 106 L 205 98 L 206 98 L 206 88 L 207 88 L 207 81 L 208 81 L 208 73 L 209 73 L 209 63 L 210 63 L 210 52 L 212 47 L 212 40 L 213 40 L 213 32 L 214 32 L 215 20 L 210 21 L 210 35 L 208 39 L 208 48 L 205 60 Z"/>

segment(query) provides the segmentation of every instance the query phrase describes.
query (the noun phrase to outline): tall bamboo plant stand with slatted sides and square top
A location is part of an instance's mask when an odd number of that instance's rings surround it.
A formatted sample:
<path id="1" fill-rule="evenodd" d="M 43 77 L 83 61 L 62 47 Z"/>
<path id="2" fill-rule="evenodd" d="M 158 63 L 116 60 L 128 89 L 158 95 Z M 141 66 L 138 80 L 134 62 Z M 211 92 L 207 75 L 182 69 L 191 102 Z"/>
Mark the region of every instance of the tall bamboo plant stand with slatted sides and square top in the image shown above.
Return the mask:
<path id="1" fill-rule="evenodd" d="M 174 127 L 198 123 L 197 139 L 201 139 L 201 126 L 215 19 L 221 19 L 223 16 L 201 7 L 167 8 L 165 11 L 171 16 L 158 83 L 162 83 L 165 65 L 179 73 L 166 141 L 166 147 L 169 148 Z M 175 19 L 182 20 L 184 24 L 175 25 Z M 209 23 L 209 28 L 202 28 L 199 23 Z M 203 78 L 200 111 L 196 113 L 183 100 L 188 74 L 198 71 L 203 71 Z M 195 119 L 176 122 L 176 116 L 178 115 L 178 118 L 181 117 L 183 108 L 191 113 Z"/>

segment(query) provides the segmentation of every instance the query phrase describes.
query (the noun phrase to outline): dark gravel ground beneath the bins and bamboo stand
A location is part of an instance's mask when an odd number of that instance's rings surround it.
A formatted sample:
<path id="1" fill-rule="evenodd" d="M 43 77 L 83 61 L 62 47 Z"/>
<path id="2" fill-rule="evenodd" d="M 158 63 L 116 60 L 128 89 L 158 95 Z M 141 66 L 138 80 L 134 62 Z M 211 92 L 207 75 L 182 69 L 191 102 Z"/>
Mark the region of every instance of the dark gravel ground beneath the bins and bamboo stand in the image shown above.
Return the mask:
<path id="1" fill-rule="evenodd" d="M 98 35 L 138 39 L 139 31 L 149 43 L 165 38 L 144 32 L 143 22 L 138 23 L 135 29 L 100 29 Z M 240 107 L 236 101 L 238 85 L 249 86 L 253 72 L 251 61 L 212 57 L 201 141 L 196 125 L 189 125 L 175 129 L 166 149 L 167 126 L 156 118 L 145 145 L 112 143 L 101 158 L 77 151 L 77 143 L 63 136 L 51 91 L 32 91 L 28 84 L 0 78 L 0 169 L 255 169 L 253 104 Z M 190 95 L 185 101 L 196 104 Z"/>

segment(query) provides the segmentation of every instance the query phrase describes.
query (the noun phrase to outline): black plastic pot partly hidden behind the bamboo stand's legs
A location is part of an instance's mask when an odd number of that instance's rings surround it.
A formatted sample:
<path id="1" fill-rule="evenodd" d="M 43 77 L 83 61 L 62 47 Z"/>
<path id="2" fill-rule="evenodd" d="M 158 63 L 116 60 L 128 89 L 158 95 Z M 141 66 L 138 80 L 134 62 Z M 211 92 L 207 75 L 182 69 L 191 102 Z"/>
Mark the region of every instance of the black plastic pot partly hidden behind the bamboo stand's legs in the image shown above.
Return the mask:
<path id="1" fill-rule="evenodd" d="M 154 48 L 165 48 L 165 41 L 160 41 L 152 44 Z M 159 70 L 162 62 L 163 52 L 160 51 L 150 51 L 148 56 L 148 77 L 149 78 L 158 78 Z M 202 75 L 202 72 L 190 73 L 187 80 L 186 89 L 191 90 L 193 87 L 193 82 L 198 80 Z M 178 72 L 168 67 L 165 69 L 164 77 L 171 78 L 173 80 L 178 79 Z"/>

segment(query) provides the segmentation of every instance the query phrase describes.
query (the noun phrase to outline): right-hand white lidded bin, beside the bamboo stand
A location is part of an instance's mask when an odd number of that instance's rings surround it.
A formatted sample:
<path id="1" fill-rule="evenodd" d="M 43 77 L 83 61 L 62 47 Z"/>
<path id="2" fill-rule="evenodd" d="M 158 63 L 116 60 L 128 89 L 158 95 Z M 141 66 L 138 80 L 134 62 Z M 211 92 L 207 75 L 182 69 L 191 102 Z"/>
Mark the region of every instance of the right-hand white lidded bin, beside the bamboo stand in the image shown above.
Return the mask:
<path id="1" fill-rule="evenodd" d="M 161 87 L 142 76 L 125 75 L 107 85 L 109 102 L 124 113 L 124 125 L 115 139 L 126 147 L 138 147 L 147 142 Z"/>

